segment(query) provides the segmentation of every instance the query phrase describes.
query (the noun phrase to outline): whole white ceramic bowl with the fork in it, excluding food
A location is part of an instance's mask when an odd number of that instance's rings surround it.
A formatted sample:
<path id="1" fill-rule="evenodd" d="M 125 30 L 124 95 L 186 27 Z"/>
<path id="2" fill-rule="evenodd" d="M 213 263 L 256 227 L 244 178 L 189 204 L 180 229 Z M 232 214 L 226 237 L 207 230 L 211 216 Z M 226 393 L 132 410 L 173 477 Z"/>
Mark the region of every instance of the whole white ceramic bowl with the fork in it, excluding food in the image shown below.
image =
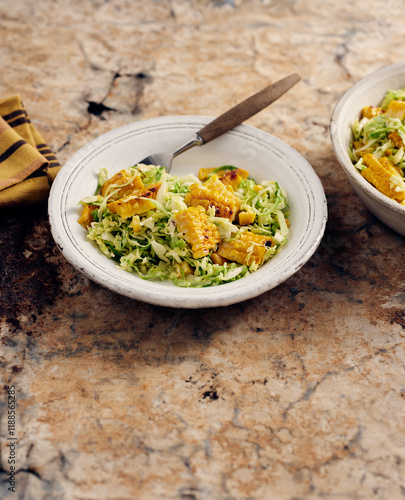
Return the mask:
<path id="1" fill-rule="evenodd" d="M 112 130 L 80 149 L 52 185 L 49 220 L 52 235 L 66 259 L 91 280 L 114 292 L 151 304 L 178 308 L 225 306 L 256 297 L 279 285 L 307 262 L 325 230 L 327 207 L 321 182 L 309 163 L 293 148 L 256 128 L 240 125 L 212 142 L 177 157 L 171 174 L 198 173 L 200 167 L 231 164 L 247 169 L 258 182 L 276 180 L 289 195 L 289 241 L 261 269 L 219 286 L 180 288 L 152 282 L 116 267 L 86 240 L 77 220 L 78 202 L 91 195 L 100 168 L 110 175 L 134 165 L 148 154 L 175 150 L 211 120 L 175 116 L 139 121 Z"/>

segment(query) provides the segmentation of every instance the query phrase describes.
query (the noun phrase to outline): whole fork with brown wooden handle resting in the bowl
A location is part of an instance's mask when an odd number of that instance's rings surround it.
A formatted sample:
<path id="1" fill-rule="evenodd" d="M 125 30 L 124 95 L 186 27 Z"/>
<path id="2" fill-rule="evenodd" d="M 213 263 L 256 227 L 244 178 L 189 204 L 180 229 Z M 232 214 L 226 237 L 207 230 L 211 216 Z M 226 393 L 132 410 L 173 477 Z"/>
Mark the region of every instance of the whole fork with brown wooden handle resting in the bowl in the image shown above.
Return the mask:
<path id="1" fill-rule="evenodd" d="M 166 167 L 166 171 L 169 172 L 172 167 L 172 161 L 176 156 L 194 146 L 207 144 L 216 137 L 240 125 L 242 122 L 276 101 L 300 80 L 301 77 L 297 73 L 293 73 L 265 87 L 205 125 L 188 142 L 174 151 L 174 153 L 153 153 L 138 163 L 164 166 Z"/>

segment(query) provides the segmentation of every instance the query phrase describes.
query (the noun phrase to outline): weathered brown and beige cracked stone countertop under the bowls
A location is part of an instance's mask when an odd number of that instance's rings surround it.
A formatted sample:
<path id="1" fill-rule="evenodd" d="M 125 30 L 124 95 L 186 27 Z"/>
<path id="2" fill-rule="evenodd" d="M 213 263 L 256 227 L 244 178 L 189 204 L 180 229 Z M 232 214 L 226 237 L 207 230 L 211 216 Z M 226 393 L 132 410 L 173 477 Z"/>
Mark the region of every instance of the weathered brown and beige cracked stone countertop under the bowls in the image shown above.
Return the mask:
<path id="1" fill-rule="evenodd" d="M 90 282 L 56 248 L 45 206 L 1 213 L 1 498 L 405 497 L 404 238 L 355 196 L 328 130 L 346 89 L 403 58 L 404 10 L 2 0 L 0 96 L 21 95 L 61 163 L 117 126 L 217 116 L 300 73 L 248 123 L 313 165 L 329 221 L 317 252 L 274 290 L 182 310 Z"/>

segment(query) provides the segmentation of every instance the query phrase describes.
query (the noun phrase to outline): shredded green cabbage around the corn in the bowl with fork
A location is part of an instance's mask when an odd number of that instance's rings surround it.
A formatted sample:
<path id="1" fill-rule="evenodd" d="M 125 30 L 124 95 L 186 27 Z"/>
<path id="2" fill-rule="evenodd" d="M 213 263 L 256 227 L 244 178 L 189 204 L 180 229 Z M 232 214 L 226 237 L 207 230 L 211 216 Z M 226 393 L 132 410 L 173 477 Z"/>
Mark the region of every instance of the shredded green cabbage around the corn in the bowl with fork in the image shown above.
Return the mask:
<path id="1" fill-rule="evenodd" d="M 233 168 L 224 166 L 216 171 L 221 175 L 221 170 Z M 181 287 L 229 283 L 257 269 L 255 264 L 215 263 L 211 258 L 212 251 L 202 258 L 193 257 L 190 245 L 177 232 L 173 217 L 187 209 L 184 198 L 190 193 L 189 186 L 201 183 L 194 174 L 178 177 L 153 165 L 136 165 L 126 169 L 126 172 L 130 179 L 140 175 L 146 187 L 161 182 L 156 199 L 140 198 L 152 202 L 154 209 L 126 218 L 113 213 L 108 204 L 124 184 L 108 186 L 107 196 L 101 196 L 100 188 L 109 179 L 105 168 L 100 170 L 96 194 L 79 202 L 94 208 L 92 220 L 87 226 L 87 239 L 106 257 L 114 259 L 117 266 L 137 273 L 142 279 L 170 280 Z M 253 179 L 247 178 L 241 181 L 234 194 L 241 200 L 241 210 L 254 214 L 251 224 L 240 226 L 235 221 L 218 217 L 214 207 L 207 208 L 207 217 L 218 228 L 221 240 L 232 240 L 246 230 L 271 236 L 272 245 L 266 247 L 264 257 L 266 262 L 287 242 L 289 207 L 286 192 L 274 181 L 263 181 L 258 186 Z"/>

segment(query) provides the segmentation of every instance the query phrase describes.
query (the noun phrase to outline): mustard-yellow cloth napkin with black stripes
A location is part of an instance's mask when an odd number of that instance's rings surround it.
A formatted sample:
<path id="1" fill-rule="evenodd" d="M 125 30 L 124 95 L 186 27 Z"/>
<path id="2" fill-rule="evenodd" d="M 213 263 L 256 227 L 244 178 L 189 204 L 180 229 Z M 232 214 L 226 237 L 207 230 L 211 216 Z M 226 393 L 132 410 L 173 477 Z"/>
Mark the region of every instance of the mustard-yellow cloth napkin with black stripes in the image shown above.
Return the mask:
<path id="1" fill-rule="evenodd" d="M 0 207 L 45 202 L 60 168 L 20 96 L 0 99 Z"/>

